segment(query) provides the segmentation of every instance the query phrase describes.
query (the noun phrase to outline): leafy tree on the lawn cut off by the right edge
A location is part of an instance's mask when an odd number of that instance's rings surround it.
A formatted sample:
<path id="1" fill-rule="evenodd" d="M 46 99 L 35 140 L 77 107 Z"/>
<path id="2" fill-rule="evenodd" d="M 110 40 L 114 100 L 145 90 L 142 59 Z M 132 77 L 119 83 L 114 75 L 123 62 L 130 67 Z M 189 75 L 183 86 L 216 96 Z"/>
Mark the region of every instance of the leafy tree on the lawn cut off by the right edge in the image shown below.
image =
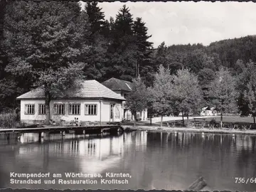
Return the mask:
<path id="1" fill-rule="evenodd" d="M 254 123 L 256 115 L 256 66 L 250 60 L 238 77 L 240 100 L 238 106 L 243 115 L 252 114 Z"/>

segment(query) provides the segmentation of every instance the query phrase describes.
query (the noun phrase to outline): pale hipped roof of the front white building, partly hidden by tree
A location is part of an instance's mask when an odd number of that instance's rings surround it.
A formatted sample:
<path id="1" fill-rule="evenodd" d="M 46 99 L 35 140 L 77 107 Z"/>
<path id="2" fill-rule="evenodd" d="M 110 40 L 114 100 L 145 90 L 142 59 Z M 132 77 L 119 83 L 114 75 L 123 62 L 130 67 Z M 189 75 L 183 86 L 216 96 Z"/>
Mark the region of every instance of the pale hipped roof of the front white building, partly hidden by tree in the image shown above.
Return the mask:
<path id="1" fill-rule="evenodd" d="M 44 99 L 45 93 L 42 87 L 38 87 L 36 90 L 31 90 L 25 94 L 17 97 L 17 100 L 22 99 Z M 114 100 L 124 100 L 123 97 L 113 92 L 109 88 L 102 85 L 97 80 L 85 80 L 82 82 L 80 88 L 70 87 L 55 98 L 106 98 Z"/>

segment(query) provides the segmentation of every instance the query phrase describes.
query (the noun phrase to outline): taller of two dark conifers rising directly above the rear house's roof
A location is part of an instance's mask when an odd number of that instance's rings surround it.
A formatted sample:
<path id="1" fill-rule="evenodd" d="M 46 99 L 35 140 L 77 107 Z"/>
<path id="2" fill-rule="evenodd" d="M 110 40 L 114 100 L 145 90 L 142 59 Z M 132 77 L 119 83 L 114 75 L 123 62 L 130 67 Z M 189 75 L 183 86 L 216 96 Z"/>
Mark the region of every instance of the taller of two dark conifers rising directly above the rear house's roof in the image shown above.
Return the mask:
<path id="1" fill-rule="evenodd" d="M 107 78 L 132 80 L 136 77 L 137 46 L 133 36 L 133 18 L 127 6 L 119 9 L 114 23 L 111 23 L 112 43 L 109 47 L 110 68 Z"/>

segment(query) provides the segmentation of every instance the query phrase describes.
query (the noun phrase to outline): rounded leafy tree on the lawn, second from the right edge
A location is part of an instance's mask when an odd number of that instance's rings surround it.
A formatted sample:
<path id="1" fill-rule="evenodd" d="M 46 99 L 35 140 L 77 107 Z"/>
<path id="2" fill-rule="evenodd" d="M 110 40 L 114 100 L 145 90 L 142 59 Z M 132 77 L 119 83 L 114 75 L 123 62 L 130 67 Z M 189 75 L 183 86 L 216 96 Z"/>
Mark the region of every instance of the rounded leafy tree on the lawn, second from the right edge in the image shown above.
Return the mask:
<path id="1" fill-rule="evenodd" d="M 220 127 L 223 124 L 223 113 L 236 112 L 236 97 L 235 78 L 226 68 L 220 68 L 215 80 L 210 84 L 211 103 L 220 112 Z"/>

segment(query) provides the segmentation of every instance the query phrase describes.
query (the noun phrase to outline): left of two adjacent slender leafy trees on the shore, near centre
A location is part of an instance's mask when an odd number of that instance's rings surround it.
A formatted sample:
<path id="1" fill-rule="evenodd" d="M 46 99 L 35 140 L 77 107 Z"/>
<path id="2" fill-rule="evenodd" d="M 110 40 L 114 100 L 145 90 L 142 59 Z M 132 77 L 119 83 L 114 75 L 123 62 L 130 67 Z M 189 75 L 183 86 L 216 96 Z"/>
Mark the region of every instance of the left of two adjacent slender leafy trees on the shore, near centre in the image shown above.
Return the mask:
<path id="1" fill-rule="evenodd" d="M 173 90 L 173 80 L 174 78 L 169 68 L 166 69 L 163 65 L 160 65 L 159 72 L 155 74 L 153 87 L 149 88 L 154 110 L 156 114 L 161 116 L 161 127 L 164 115 L 169 115 L 172 111 L 171 92 Z"/>

